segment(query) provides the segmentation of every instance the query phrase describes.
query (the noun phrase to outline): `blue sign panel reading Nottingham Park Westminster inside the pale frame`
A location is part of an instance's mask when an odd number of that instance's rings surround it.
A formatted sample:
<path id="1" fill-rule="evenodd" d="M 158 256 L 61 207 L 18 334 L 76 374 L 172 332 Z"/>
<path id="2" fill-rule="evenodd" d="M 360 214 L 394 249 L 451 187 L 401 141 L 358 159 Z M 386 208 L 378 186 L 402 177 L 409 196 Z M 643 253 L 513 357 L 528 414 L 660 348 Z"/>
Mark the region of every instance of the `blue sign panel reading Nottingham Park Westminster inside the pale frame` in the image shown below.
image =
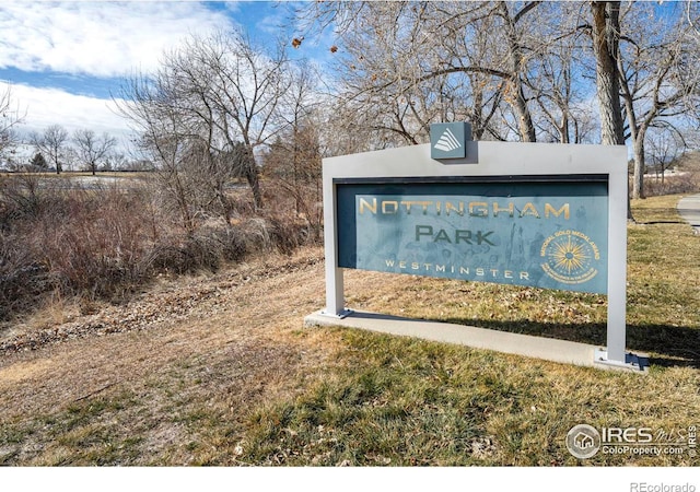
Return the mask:
<path id="1" fill-rule="evenodd" d="M 608 187 L 338 186 L 338 267 L 607 293 Z"/>

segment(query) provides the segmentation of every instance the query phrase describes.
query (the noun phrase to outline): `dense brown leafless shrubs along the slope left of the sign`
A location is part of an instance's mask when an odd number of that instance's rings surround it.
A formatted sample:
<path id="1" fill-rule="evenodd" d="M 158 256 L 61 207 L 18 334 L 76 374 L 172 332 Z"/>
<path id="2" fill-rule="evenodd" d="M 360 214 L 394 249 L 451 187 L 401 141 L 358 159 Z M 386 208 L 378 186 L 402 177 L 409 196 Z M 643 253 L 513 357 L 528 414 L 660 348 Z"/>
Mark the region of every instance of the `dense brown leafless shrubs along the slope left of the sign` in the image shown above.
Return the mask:
<path id="1" fill-rule="evenodd" d="M 291 251 L 308 236 L 303 222 L 250 213 L 235 192 L 228 203 L 230 221 L 199 210 L 185 227 L 150 185 L 75 189 L 0 177 L 0 320 L 51 293 L 119 298 L 158 274 L 214 271 L 254 253 Z"/>

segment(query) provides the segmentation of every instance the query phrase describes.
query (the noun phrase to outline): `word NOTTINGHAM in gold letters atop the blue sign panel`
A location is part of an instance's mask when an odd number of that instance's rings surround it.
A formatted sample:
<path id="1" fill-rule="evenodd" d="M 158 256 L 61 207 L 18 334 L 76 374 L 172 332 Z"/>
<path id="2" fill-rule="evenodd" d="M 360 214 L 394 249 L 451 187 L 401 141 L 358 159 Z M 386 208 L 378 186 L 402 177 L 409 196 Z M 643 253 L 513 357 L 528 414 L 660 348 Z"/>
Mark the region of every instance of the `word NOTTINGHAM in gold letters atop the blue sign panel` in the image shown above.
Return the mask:
<path id="1" fill-rule="evenodd" d="M 536 206 L 526 202 L 521 208 L 512 201 L 464 201 L 464 200 L 390 200 L 359 197 L 358 212 L 360 215 L 371 213 L 373 215 L 458 215 L 472 218 L 505 216 L 513 219 L 550 219 L 558 218 L 569 220 L 571 208 L 569 203 L 555 206 L 544 203 Z"/>

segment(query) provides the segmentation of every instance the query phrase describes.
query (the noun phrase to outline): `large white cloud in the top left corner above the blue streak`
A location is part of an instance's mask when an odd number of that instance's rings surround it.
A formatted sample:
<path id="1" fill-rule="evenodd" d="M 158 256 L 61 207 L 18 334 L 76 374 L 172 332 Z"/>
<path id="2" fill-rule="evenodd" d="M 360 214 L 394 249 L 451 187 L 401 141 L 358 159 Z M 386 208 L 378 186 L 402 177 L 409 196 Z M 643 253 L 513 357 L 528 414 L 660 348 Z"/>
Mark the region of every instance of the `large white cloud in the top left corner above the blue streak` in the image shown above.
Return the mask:
<path id="1" fill-rule="evenodd" d="M 95 77 L 149 71 L 188 35 L 231 27 L 230 14 L 183 1 L 0 2 L 0 67 Z"/>

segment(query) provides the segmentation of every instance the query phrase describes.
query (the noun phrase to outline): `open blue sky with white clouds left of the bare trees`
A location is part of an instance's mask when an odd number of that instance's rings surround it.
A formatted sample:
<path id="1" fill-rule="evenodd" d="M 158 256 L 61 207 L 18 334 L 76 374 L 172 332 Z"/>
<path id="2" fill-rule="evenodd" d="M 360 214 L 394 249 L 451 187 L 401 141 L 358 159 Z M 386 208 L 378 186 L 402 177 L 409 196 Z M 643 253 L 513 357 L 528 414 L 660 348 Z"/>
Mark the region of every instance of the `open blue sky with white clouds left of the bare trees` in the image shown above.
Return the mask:
<path id="1" fill-rule="evenodd" d="M 292 5 L 0 0 L 0 90 L 10 84 L 13 102 L 26 113 L 23 132 L 59 124 L 69 131 L 92 128 L 126 139 L 127 121 L 112 109 L 124 77 L 155 69 L 164 50 L 191 34 L 241 27 L 270 42 L 289 31 L 291 40 L 293 28 L 283 25 Z"/>

